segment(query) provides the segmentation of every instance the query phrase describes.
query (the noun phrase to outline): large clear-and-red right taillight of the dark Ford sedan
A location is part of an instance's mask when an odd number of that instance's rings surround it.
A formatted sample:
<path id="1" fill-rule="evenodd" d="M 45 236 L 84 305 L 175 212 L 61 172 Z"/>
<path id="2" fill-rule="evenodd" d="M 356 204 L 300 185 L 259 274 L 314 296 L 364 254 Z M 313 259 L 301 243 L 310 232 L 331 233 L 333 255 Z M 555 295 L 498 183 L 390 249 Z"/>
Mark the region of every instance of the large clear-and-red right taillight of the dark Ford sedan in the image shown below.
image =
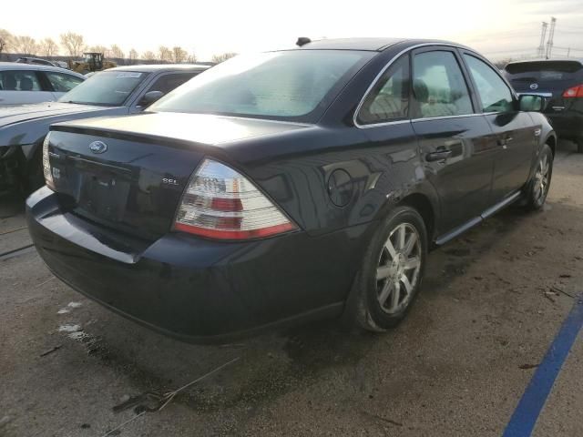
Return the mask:
<path id="1" fill-rule="evenodd" d="M 251 180 L 205 159 L 182 195 L 174 229 L 210 239 L 257 239 L 297 227 Z"/>

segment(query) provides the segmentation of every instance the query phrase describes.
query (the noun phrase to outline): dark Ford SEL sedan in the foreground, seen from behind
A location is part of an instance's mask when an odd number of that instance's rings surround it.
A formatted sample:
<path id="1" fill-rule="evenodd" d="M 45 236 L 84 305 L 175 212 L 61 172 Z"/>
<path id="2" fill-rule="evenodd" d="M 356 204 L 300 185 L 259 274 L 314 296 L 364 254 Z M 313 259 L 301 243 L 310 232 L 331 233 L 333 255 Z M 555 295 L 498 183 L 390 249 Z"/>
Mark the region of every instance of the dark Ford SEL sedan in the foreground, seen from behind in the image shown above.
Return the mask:
<path id="1" fill-rule="evenodd" d="M 222 341 L 404 318 L 427 250 L 541 208 L 557 137 L 486 58 L 394 39 L 237 56 L 132 117 L 51 127 L 26 201 L 47 266 L 148 327 Z"/>

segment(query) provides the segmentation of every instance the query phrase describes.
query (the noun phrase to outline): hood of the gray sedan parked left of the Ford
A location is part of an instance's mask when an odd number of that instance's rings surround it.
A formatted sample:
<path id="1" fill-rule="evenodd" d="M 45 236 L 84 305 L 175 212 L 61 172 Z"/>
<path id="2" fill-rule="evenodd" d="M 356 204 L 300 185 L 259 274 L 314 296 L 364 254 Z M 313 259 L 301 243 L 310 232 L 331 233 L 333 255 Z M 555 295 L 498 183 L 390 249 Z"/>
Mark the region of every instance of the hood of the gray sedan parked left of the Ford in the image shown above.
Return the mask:
<path id="1" fill-rule="evenodd" d="M 126 107 L 97 107 L 72 103 L 46 102 L 0 108 L 0 147 L 35 144 L 53 123 L 86 117 L 126 113 Z"/>

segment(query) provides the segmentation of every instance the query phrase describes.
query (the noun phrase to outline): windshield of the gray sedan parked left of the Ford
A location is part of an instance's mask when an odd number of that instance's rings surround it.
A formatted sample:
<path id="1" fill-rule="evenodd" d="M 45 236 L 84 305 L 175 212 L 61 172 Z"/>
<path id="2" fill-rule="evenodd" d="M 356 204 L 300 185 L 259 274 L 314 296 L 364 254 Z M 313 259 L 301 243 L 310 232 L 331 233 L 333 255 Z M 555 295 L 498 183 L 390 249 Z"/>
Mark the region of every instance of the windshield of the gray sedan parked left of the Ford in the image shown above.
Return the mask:
<path id="1" fill-rule="evenodd" d="M 58 101 L 106 107 L 122 106 L 146 76 L 148 73 L 134 71 L 102 71 L 89 77 Z"/>

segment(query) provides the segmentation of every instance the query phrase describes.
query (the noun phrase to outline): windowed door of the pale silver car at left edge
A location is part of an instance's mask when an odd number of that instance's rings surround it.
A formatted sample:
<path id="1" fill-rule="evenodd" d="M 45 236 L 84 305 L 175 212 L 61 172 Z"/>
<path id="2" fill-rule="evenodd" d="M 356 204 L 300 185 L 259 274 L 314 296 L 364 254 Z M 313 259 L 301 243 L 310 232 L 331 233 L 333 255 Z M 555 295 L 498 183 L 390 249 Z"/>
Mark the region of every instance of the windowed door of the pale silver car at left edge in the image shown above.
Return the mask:
<path id="1" fill-rule="evenodd" d="M 55 100 L 34 70 L 0 71 L 0 106 L 27 105 Z"/>

